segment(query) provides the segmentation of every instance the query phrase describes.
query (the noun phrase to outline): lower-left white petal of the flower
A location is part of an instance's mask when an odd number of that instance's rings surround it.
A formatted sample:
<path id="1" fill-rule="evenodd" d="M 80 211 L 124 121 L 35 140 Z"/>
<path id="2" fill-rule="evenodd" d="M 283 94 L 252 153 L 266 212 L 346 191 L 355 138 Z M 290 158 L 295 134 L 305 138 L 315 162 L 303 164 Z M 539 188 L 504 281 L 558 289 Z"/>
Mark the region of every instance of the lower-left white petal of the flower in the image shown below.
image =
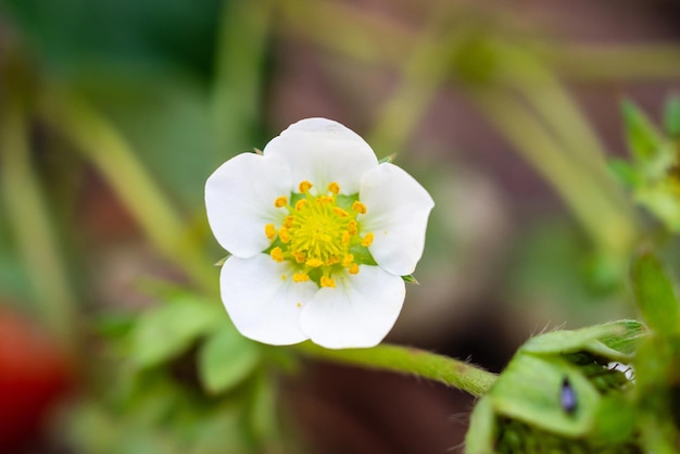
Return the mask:
<path id="1" fill-rule="evenodd" d="M 281 278 L 282 275 L 287 279 Z M 300 329 L 300 313 L 317 290 L 314 282 L 293 282 L 287 262 L 266 254 L 231 256 L 219 275 L 222 300 L 241 335 L 273 345 L 307 339 Z"/>

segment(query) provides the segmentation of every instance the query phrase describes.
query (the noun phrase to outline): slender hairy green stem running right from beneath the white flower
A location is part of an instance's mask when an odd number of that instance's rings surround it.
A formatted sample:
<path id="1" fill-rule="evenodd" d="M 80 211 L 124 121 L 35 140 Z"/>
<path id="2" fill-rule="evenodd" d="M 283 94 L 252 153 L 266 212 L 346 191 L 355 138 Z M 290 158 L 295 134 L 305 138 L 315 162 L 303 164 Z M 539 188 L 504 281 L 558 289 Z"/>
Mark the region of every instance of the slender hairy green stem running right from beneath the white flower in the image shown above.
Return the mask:
<path id="1" fill-rule="evenodd" d="M 477 398 L 486 394 L 496 375 L 477 366 L 425 350 L 381 344 L 373 349 L 328 350 L 304 342 L 297 348 L 303 355 L 320 361 L 365 366 L 414 375 L 454 387 Z"/>

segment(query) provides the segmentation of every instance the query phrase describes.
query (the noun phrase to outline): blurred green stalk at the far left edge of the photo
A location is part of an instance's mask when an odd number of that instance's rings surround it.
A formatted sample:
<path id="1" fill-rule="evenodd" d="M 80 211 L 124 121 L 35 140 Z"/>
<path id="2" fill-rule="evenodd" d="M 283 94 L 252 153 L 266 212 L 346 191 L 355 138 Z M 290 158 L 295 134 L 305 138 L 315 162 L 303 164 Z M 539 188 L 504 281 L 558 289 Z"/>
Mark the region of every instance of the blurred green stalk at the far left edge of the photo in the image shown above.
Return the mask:
<path id="1" fill-rule="evenodd" d="M 13 103 L 8 103 L 0 118 L 2 196 L 39 307 L 37 315 L 66 348 L 74 350 L 77 300 L 59 252 L 39 177 L 30 162 L 27 118 Z"/>

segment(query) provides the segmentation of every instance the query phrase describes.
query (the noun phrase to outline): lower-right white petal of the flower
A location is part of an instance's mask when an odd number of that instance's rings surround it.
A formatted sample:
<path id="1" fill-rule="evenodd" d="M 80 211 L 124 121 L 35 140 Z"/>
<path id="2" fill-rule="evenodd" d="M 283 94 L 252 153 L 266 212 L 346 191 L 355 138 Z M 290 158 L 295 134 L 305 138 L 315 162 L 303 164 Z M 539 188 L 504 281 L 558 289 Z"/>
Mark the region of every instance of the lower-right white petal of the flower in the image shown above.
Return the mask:
<path id="1" fill-rule="evenodd" d="M 306 336 L 327 349 L 375 346 L 392 329 L 406 294 L 401 277 L 363 265 L 357 275 L 336 278 L 302 308 Z"/>

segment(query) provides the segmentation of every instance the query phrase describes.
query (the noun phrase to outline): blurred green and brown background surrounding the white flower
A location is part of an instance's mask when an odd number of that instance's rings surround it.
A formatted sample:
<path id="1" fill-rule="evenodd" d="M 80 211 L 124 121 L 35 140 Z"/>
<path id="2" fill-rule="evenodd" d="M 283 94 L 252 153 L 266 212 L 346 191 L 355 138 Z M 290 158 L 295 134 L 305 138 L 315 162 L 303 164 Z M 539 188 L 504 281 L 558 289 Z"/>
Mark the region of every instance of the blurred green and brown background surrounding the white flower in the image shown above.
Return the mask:
<path id="1" fill-rule="evenodd" d="M 388 341 L 499 371 L 531 333 L 633 316 L 646 214 L 609 171 L 658 119 L 655 1 L 1 0 L 0 452 L 462 452 L 474 404 L 235 335 L 203 185 L 303 117 L 437 206 Z"/>

